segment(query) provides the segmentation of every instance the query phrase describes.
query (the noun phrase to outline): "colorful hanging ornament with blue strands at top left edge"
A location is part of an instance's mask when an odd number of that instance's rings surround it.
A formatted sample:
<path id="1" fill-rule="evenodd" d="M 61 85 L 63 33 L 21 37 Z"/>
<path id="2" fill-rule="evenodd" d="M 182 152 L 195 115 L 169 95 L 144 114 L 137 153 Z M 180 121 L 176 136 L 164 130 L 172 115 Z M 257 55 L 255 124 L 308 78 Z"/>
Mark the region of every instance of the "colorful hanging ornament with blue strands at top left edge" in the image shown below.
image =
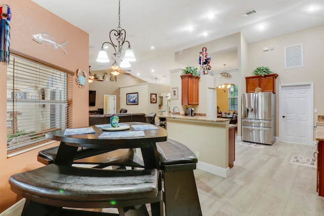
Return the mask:
<path id="1" fill-rule="evenodd" d="M 0 62 L 9 63 L 10 55 L 10 19 L 11 9 L 8 5 L 0 6 Z"/>

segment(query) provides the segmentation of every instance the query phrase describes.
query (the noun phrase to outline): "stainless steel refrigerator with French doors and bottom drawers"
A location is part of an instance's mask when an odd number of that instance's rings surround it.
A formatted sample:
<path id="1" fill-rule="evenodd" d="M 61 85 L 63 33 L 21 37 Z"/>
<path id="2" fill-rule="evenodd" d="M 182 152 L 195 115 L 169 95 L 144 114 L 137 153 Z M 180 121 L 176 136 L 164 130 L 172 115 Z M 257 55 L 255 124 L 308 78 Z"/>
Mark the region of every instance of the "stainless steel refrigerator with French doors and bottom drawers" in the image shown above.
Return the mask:
<path id="1" fill-rule="evenodd" d="M 242 141 L 272 145 L 275 142 L 275 94 L 242 94 Z"/>

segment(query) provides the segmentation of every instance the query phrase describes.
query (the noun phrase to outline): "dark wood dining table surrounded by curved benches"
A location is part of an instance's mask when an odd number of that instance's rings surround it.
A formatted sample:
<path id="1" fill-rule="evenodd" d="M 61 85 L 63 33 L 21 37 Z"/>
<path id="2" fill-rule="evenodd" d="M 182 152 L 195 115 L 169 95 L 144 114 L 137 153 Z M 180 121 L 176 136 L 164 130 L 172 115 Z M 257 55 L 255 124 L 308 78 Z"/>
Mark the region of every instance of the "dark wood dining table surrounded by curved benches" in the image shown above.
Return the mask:
<path id="1" fill-rule="evenodd" d="M 130 125 L 128 131 L 135 131 L 132 125 L 144 125 L 147 123 L 125 122 L 124 124 Z M 116 149 L 140 148 L 145 168 L 159 169 L 159 159 L 155 143 L 167 141 L 168 133 L 165 128 L 156 126 L 158 129 L 144 130 L 144 137 L 99 138 L 106 131 L 103 131 L 102 128 L 97 126 L 91 127 L 94 129 L 95 134 L 65 136 L 64 129 L 46 134 L 46 138 L 61 142 L 55 159 L 56 164 L 72 165 L 78 147 L 111 151 Z"/>

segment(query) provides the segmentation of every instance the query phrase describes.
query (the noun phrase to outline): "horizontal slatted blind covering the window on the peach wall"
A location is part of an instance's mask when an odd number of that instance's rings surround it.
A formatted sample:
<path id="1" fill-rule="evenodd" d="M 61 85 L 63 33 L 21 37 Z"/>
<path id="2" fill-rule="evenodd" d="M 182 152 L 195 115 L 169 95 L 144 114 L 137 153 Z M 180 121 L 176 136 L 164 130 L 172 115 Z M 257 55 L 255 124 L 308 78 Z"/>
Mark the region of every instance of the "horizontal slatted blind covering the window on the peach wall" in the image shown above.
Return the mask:
<path id="1" fill-rule="evenodd" d="M 10 57 L 7 69 L 7 150 L 45 141 L 67 125 L 67 74 Z"/>

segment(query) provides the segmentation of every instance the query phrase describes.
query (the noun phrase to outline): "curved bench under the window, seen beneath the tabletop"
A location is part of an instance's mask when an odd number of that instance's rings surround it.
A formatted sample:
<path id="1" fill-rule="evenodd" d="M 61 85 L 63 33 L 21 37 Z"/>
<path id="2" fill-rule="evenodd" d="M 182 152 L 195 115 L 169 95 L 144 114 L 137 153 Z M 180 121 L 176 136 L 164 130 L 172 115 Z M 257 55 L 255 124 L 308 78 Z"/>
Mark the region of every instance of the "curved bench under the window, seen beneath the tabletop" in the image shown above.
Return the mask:
<path id="1" fill-rule="evenodd" d="M 58 146 L 38 152 L 37 161 L 48 165 L 55 162 Z M 73 164 L 93 164 L 96 168 L 123 168 L 126 166 L 144 167 L 143 161 L 134 152 L 134 149 L 116 149 L 114 151 L 102 149 L 79 148 L 75 154 Z M 118 167 L 116 167 L 118 166 Z"/>

